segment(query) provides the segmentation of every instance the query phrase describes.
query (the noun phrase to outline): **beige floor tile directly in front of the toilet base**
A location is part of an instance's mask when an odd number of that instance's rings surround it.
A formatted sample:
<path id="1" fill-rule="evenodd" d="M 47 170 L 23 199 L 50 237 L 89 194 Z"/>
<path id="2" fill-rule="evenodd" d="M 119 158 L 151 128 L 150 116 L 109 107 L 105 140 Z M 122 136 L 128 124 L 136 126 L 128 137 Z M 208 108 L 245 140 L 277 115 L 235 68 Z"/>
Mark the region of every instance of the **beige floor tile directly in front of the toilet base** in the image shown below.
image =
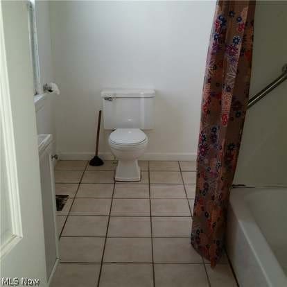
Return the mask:
<path id="1" fill-rule="evenodd" d="M 116 184 L 114 198 L 149 198 L 148 184 Z"/>

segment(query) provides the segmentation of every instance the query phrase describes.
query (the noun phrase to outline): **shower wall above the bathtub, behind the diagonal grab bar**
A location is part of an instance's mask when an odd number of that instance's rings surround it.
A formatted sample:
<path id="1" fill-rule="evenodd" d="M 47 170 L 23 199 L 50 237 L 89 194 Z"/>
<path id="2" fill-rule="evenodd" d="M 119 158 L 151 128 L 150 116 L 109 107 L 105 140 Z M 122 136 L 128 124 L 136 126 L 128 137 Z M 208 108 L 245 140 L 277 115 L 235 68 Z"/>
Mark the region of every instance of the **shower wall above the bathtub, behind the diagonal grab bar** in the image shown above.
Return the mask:
<path id="1" fill-rule="evenodd" d="M 257 1 L 250 95 L 287 64 L 287 2 Z M 287 80 L 247 111 L 235 184 L 287 185 Z"/>

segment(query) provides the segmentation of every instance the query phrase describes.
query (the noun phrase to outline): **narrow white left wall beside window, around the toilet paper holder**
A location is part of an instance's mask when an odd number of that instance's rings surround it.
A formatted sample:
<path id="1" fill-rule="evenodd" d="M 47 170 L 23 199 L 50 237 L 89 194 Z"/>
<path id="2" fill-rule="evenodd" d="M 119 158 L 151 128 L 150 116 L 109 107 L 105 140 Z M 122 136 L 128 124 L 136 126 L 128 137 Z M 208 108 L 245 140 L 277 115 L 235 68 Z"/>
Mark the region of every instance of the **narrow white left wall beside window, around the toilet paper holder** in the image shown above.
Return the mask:
<path id="1" fill-rule="evenodd" d="M 49 82 L 54 82 L 48 2 L 49 1 L 35 1 L 41 86 Z M 36 112 L 36 119 L 37 133 L 53 134 L 55 141 L 54 103 L 55 95 L 47 94 L 44 105 Z"/>

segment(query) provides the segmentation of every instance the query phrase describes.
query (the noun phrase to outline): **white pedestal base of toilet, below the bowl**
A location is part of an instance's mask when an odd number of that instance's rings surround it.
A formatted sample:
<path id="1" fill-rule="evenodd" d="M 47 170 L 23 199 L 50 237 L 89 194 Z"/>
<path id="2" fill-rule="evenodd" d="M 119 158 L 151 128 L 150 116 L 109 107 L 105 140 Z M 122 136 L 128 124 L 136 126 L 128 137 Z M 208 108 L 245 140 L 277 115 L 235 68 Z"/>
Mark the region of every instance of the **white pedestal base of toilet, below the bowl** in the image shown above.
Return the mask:
<path id="1" fill-rule="evenodd" d="M 116 182 L 139 182 L 141 180 L 141 168 L 139 168 L 137 159 L 119 159 L 114 180 Z"/>

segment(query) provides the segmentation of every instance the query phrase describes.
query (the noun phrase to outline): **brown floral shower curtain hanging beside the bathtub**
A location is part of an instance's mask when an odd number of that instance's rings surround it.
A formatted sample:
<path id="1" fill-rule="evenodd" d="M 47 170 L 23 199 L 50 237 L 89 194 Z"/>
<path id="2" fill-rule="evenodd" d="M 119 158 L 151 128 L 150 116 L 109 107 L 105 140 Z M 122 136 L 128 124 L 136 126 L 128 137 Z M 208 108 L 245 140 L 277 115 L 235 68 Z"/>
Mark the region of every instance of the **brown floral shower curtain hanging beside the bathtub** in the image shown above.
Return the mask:
<path id="1" fill-rule="evenodd" d="M 214 267 L 249 96 L 255 1 L 218 1 L 202 93 L 191 244 Z"/>

